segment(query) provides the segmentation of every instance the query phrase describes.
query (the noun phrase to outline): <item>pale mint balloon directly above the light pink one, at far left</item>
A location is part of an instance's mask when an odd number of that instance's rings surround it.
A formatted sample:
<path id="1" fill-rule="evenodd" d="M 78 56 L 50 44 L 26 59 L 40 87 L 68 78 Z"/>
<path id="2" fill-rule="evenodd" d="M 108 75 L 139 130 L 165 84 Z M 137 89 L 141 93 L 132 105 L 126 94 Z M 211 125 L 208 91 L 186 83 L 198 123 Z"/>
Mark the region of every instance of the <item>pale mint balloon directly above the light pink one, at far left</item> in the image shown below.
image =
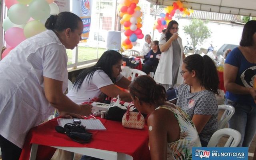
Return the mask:
<path id="1" fill-rule="evenodd" d="M 14 4 L 8 10 L 8 17 L 14 24 L 25 24 L 30 18 L 28 7 L 24 4 Z"/>

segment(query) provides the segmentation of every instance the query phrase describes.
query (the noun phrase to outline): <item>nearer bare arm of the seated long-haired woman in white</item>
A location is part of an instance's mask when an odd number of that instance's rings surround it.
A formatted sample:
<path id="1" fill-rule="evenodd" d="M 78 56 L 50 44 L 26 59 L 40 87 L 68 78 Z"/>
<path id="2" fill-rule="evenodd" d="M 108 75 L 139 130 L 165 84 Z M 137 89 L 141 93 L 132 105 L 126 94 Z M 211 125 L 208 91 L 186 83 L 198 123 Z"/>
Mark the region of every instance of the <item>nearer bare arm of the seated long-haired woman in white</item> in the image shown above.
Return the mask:
<path id="1" fill-rule="evenodd" d="M 108 85 L 108 86 L 104 86 L 104 87 L 100 88 L 100 90 L 101 90 L 104 94 L 106 94 L 107 96 L 110 96 L 110 97 L 112 97 L 112 98 L 118 96 L 118 94 L 119 94 L 119 97 L 120 97 L 123 101 L 125 101 L 125 102 L 131 102 L 131 101 L 132 101 L 132 98 L 131 98 L 130 93 L 120 90 L 120 89 L 117 88 L 117 86 L 114 85 L 114 84 L 110 84 L 110 85 Z"/>

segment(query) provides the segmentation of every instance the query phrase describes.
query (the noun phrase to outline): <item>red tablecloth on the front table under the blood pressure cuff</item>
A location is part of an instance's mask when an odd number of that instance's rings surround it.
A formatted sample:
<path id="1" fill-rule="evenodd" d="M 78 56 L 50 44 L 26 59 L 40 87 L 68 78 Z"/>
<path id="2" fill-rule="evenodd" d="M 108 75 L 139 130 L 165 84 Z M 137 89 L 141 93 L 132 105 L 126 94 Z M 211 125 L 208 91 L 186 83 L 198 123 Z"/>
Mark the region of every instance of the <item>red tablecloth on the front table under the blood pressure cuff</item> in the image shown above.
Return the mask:
<path id="1" fill-rule="evenodd" d="M 56 118 L 32 128 L 26 138 L 20 160 L 29 160 L 33 143 L 40 144 L 36 160 L 50 160 L 56 150 L 50 146 L 97 148 L 125 153 L 132 156 L 134 160 L 150 160 L 147 126 L 143 130 L 136 130 L 124 128 L 121 122 L 105 119 L 100 121 L 107 130 L 90 131 L 93 136 L 88 144 L 74 142 L 66 134 L 56 132 L 54 129 L 58 125 Z"/>

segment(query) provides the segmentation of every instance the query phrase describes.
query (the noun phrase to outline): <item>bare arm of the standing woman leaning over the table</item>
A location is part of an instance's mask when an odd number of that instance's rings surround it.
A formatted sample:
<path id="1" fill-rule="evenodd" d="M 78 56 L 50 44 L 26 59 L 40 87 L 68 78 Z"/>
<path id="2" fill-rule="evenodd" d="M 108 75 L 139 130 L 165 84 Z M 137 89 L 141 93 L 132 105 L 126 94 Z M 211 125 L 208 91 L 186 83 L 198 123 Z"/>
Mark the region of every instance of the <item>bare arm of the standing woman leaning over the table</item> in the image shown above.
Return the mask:
<path id="1" fill-rule="evenodd" d="M 44 76 L 44 94 L 50 104 L 60 112 L 70 112 L 85 116 L 92 112 L 92 105 L 78 105 L 62 92 L 62 81 Z"/>

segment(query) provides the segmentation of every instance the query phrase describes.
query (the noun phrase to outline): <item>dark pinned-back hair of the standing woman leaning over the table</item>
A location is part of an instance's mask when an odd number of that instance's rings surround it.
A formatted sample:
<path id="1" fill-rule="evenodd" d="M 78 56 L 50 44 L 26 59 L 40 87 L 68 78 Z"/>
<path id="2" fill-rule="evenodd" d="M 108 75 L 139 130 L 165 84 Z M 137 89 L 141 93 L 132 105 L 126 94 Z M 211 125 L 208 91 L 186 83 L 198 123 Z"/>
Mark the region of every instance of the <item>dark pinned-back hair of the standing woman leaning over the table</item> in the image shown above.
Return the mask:
<path id="1" fill-rule="evenodd" d="M 73 32 L 78 28 L 78 22 L 82 22 L 81 18 L 71 12 L 60 12 L 58 15 L 51 15 L 45 22 L 45 28 L 61 32 L 70 28 Z"/>

